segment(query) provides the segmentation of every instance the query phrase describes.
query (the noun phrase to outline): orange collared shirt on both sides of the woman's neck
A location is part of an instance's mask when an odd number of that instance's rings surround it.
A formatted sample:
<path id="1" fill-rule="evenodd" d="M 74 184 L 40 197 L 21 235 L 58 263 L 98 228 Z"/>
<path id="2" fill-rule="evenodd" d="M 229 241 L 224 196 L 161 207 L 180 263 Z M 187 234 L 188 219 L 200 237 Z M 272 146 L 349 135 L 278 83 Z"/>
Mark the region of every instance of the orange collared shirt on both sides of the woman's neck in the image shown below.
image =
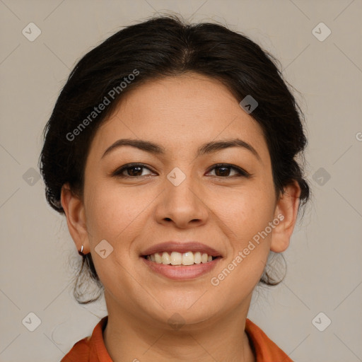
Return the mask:
<path id="1" fill-rule="evenodd" d="M 107 325 L 107 320 L 106 315 L 95 326 L 91 337 L 76 342 L 60 362 L 113 362 L 103 341 L 103 330 Z M 245 322 L 245 332 L 252 342 L 257 362 L 293 362 L 262 329 L 249 319 Z"/>

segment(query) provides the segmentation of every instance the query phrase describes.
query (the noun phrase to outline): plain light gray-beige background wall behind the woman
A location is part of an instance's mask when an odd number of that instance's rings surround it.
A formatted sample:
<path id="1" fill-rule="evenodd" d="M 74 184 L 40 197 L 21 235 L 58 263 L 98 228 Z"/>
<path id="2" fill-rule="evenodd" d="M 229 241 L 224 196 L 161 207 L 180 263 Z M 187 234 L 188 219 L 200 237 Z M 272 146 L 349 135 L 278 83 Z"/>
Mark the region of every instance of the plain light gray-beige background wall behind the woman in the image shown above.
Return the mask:
<path id="1" fill-rule="evenodd" d="M 361 0 L 0 0 L 0 361 L 59 361 L 107 314 L 104 300 L 85 307 L 72 298 L 80 257 L 37 180 L 41 133 L 83 54 L 123 26 L 170 11 L 250 36 L 302 94 L 314 199 L 284 254 L 286 279 L 257 288 L 250 319 L 293 361 L 362 361 Z M 31 22 L 41 30 L 33 42 L 22 33 Z M 315 32 L 325 37 L 324 25 L 313 32 L 321 22 L 332 31 L 323 41 Z M 35 317 L 22 322 L 28 313 L 41 320 L 34 332 Z"/>

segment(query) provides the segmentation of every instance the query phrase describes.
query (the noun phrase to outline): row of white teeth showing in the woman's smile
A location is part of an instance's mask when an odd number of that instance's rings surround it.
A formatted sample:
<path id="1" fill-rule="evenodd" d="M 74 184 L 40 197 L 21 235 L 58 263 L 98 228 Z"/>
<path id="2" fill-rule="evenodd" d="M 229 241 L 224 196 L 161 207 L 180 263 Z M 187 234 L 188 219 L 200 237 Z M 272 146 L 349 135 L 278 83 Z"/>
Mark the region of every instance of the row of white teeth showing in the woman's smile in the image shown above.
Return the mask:
<path id="1" fill-rule="evenodd" d="M 206 252 L 156 252 L 152 255 L 147 255 L 147 260 L 156 262 L 157 264 L 171 264 L 171 265 L 192 265 L 207 263 L 212 261 L 212 256 L 207 255 Z"/>

